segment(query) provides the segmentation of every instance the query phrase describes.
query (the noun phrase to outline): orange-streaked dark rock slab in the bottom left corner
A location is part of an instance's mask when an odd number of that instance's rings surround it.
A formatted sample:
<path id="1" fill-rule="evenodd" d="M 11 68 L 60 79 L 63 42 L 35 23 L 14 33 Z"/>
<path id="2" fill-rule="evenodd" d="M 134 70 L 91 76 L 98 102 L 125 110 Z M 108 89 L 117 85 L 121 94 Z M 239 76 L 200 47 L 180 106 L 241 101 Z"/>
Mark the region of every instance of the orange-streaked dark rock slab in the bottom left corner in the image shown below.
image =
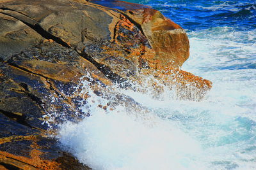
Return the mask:
<path id="1" fill-rule="evenodd" d="M 13 152 L 18 148 L 19 152 Z M 2 138 L 0 162 L 3 169 L 90 169 L 61 152 L 55 139 L 40 135 Z"/>

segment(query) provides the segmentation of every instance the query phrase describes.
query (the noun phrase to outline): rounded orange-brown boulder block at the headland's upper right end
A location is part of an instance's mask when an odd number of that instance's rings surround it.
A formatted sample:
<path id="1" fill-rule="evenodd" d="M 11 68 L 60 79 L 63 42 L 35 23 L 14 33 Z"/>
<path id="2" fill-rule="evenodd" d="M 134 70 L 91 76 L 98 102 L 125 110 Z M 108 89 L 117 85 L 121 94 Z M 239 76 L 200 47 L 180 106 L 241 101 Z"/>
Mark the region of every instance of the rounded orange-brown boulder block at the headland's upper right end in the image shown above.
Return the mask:
<path id="1" fill-rule="evenodd" d="M 141 25 L 157 60 L 157 67 L 180 67 L 189 57 L 189 41 L 184 29 L 152 8 L 126 11 Z"/>

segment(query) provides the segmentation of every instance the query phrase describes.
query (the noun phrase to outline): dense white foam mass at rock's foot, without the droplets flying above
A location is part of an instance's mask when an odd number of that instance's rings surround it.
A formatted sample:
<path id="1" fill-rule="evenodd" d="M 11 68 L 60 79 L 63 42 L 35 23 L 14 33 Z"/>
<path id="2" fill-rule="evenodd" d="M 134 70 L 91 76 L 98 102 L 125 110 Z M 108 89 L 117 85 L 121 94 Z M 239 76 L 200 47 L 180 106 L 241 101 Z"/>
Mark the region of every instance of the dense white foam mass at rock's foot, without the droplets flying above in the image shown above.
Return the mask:
<path id="1" fill-rule="evenodd" d="M 158 117 L 149 120 L 148 115 L 138 119 L 138 113 L 127 113 L 123 106 L 107 113 L 90 106 L 94 108 L 90 117 L 79 124 L 63 124 L 60 141 L 93 169 L 202 167 L 196 159 L 200 145 L 177 124 Z"/>

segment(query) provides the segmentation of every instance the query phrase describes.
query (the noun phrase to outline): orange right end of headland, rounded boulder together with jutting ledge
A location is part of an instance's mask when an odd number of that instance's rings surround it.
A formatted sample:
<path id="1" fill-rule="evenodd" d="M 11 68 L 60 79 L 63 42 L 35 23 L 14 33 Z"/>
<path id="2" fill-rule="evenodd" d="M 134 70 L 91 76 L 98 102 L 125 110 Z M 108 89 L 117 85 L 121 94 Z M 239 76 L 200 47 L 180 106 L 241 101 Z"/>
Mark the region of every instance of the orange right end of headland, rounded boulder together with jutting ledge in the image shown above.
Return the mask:
<path id="1" fill-rule="evenodd" d="M 121 13 L 116 22 L 114 41 L 97 45 L 99 53 L 85 48 L 88 55 L 125 80 L 140 82 L 143 89 L 152 87 L 155 96 L 163 85 L 175 89 L 175 99 L 200 101 L 211 89 L 211 81 L 179 69 L 189 57 L 186 32 L 159 11 L 124 1 L 97 1 Z M 136 37 L 136 39 L 132 39 Z M 102 50 L 103 49 L 103 50 Z M 100 56 L 100 59 L 99 59 Z M 149 76 L 154 74 L 153 78 Z M 143 79 L 149 79 L 141 81 Z M 156 81 L 161 82 L 158 87 Z M 146 82 L 146 83 L 145 83 Z M 138 90 L 138 89 L 137 89 Z"/>

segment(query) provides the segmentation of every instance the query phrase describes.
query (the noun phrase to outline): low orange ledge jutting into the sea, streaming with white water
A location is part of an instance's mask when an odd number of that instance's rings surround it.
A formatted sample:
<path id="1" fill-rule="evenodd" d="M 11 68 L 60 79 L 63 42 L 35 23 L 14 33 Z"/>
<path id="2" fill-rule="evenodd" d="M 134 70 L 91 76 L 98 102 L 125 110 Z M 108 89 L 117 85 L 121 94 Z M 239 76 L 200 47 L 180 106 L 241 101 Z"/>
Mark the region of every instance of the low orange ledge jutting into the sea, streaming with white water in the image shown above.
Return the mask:
<path id="1" fill-rule="evenodd" d="M 146 84 L 139 81 L 142 87 L 152 87 L 156 96 L 161 95 L 163 89 L 167 88 L 175 91 L 175 99 L 200 101 L 212 87 L 211 81 L 175 68 L 168 68 L 165 71 L 143 69 L 141 75 L 148 77 Z"/>

